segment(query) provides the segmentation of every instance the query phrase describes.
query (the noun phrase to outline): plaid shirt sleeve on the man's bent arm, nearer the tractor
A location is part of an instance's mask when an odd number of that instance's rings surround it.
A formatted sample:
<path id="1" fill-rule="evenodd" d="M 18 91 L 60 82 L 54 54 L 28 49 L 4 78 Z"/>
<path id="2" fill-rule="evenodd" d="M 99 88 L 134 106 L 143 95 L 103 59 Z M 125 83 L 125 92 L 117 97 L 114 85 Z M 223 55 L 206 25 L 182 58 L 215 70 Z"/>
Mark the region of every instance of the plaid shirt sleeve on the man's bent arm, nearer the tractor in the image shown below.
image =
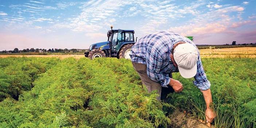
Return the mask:
<path id="1" fill-rule="evenodd" d="M 154 51 L 147 57 L 147 75 L 151 80 L 159 82 L 163 87 L 167 87 L 170 82 L 170 77 L 168 74 L 160 73 L 160 69 L 163 65 L 163 56 L 159 54 L 159 50 Z"/>

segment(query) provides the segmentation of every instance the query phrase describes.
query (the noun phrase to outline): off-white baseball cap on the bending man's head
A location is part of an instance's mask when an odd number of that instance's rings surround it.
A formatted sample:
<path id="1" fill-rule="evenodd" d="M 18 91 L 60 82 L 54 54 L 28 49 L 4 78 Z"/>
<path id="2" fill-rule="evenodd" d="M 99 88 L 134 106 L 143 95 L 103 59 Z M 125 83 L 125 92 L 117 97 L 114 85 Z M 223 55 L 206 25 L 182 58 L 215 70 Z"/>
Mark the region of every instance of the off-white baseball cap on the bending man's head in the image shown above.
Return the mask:
<path id="1" fill-rule="evenodd" d="M 173 57 L 182 77 L 192 78 L 197 74 L 198 50 L 195 46 L 190 43 L 179 44 L 173 51 Z"/>

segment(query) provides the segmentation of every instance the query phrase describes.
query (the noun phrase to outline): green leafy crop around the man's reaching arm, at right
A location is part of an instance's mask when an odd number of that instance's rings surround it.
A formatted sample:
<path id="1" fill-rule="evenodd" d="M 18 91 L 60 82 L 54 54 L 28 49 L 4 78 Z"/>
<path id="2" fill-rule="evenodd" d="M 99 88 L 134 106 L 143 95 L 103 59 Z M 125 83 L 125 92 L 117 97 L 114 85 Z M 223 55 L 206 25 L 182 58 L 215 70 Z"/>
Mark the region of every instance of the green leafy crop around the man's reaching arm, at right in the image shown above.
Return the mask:
<path id="1" fill-rule="evenodd" d="M 202 61 L 211 82 L 217 112 L 215 126 L 255 128 L 256 59 L 204 58 Z M 169 95 L 172 104 L 204 119 L 205 102 L 202 93 L 192 84 L 193 79 L 184 79 L 178 73 L 173 76 L 184 85 L 184 91 Z"/>

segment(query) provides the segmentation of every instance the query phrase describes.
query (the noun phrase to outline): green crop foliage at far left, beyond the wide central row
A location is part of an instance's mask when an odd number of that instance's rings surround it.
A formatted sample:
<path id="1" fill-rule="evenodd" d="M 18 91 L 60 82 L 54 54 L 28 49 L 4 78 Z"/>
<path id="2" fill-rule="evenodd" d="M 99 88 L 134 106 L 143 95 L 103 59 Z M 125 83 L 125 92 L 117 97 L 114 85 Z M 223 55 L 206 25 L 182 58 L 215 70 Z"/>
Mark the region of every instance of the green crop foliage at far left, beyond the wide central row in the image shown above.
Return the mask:
<path id="1" fill-rule="evenodd" d="M 39 74 L 58 61 L 57 58 L 0 58 L 0 101 L 7 97 L 18 100 L 22 91 L 31 90 Z"/>

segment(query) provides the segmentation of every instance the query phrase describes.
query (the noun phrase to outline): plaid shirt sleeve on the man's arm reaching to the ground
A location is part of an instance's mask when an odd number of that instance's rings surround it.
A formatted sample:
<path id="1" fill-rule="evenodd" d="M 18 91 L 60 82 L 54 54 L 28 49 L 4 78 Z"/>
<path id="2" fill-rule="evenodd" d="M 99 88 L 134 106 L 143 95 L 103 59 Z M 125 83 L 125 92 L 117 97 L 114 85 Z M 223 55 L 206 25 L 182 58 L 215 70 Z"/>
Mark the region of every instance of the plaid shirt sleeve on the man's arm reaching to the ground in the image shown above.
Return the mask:
<path id="1" fill-rule="evenodd" d="M 197 88 L 201 90 L 207 90 L 210 88 L 211 84 L 206 77 L 205 71 L 203 70 L 203 65 L 199 54 L 197 61 L 197 74 L 195 74 L 194 78 L 195 81 L 193 81 L 193 84 L 197 86 Z"/>

